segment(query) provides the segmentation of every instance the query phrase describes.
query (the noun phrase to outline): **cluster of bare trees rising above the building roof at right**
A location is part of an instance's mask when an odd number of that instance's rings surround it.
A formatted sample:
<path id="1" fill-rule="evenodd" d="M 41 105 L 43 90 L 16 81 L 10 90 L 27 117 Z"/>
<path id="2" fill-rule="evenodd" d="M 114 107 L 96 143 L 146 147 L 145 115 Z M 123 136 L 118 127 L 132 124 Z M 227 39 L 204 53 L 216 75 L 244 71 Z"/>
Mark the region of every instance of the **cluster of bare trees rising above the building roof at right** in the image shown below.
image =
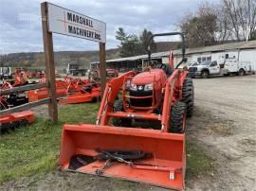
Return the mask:
<path id="1" fill-rule="evenodd" d="M 205 0 L 196 14 L 184 17 L 180 29 L 189 46 L 256 39 L 256 0 Z"/>

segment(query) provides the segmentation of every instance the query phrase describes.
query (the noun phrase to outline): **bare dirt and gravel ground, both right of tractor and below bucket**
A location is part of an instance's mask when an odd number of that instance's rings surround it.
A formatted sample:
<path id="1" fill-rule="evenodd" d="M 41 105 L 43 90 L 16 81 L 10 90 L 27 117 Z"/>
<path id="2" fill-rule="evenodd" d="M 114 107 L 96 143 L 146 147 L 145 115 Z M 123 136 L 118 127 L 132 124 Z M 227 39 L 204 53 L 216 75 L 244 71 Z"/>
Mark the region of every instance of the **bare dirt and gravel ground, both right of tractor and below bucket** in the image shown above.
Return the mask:
<path id="1" fill-rule="evenodd" d="M 212 158 L 210 176 L 186 180 L 187 190 L 256 190 L 256 76 L 196 78 L 187 138 Z M 6 190 L 165 190 L 135 182 L 55 171 L 6 182 Z"/>

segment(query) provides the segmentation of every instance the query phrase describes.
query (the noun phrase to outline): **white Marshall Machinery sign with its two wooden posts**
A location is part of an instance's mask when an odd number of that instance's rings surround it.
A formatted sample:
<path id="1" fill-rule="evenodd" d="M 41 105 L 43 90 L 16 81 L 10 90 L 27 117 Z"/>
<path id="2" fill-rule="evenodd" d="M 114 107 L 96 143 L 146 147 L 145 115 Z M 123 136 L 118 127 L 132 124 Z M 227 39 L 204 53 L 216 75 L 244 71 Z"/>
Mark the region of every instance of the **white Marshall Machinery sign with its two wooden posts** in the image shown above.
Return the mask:
<path id="1" fill-rule="evenodd" d="M 52 33 L 64 34 L 100 43 L 101 96 L 106 83 L 106 24 L 70 9 L 44 2 L 41 4 L 44 50 L 46 60 L 46 79 L 50 102 L 48 113 L 50 119 L 58 121 L 56 97 L 55 63 L 53 55 Z"/>

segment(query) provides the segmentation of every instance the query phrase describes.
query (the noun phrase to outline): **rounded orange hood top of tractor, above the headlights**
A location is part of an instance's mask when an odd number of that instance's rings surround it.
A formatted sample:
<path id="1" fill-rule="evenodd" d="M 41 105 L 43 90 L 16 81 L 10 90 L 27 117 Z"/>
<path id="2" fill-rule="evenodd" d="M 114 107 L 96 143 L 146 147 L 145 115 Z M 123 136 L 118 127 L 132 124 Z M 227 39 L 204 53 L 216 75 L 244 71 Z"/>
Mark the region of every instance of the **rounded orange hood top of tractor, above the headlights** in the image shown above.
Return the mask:
<path id="1" fill-rule="evenodd" d="M 162 69 L 152 69 L 150 72 L 139 73 L 132 79 L 132 83 L 136 85 L 149 84 L 166 79 L 166 74 Z"/>

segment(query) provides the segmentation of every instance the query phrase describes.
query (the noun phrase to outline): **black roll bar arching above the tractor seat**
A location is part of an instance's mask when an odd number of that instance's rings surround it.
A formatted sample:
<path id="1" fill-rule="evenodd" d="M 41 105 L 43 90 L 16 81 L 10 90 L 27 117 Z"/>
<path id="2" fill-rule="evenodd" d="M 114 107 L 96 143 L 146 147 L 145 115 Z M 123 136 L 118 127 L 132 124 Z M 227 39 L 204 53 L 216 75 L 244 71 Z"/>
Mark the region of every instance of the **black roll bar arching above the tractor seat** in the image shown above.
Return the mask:
<path id="1" fill-rule="evenodd" d="M 181 32 L 167 32 L 167 33 L 159 33 L 159 34 L 153 34 L 150 39 L 149 39 L 149 45 L 148 45 L 148 58 L 149 58 L 149 63 L 151 63 L 151 43 L 153 42 L 153 39 L 155 37 L 161 37 L 161 36 L 174 36 L 174 35 L 179 35 L 181 36 L 182 39 L 182 61 L 180 61 L 175 68 L 178 68 L 178 66 L 183 62 L 183 61 L 187 61 L 185 58 L 185 38 L 184 38 L 184 34 Z"/>

